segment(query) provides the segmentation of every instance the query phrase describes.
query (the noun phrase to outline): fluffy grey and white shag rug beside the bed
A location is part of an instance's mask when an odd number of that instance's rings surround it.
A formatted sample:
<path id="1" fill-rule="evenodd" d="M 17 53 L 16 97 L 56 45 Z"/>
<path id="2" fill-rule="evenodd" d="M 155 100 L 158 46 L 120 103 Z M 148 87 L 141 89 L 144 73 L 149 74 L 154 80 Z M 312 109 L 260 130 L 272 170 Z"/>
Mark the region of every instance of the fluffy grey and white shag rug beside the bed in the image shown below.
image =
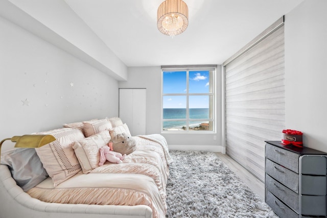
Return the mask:
<path id="1" fill-rule="evenodd" d="M 278 217 L 215 153 L 170 154 L 166 217 Z"/>

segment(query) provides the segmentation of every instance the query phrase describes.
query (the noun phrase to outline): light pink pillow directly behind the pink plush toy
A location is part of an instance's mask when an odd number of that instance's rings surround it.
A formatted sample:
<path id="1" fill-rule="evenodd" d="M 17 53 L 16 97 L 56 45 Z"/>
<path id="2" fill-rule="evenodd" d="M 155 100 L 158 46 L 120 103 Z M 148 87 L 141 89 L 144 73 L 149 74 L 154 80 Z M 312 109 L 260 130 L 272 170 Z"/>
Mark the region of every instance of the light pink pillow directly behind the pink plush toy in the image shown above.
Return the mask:
<path id="1" fill-rule="evenodd" d="M 74 143 L 73 149 L 84 174 L 99 166 L 99 149 L 108 144 L 110 139 L 109 131 L 102 131 Z"/>

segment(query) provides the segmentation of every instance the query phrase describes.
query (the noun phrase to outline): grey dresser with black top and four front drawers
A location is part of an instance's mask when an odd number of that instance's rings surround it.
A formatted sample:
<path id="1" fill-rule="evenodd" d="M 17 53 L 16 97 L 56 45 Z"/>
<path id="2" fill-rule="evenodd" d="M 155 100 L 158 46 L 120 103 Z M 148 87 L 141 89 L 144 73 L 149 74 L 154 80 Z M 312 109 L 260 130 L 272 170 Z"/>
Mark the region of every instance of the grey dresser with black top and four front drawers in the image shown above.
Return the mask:
<path id="1" fill-rule="evenodd" d="M 265 201 L 279 217 L 327 217 L 327 153 L 266 141 L 265 156 Z"/>

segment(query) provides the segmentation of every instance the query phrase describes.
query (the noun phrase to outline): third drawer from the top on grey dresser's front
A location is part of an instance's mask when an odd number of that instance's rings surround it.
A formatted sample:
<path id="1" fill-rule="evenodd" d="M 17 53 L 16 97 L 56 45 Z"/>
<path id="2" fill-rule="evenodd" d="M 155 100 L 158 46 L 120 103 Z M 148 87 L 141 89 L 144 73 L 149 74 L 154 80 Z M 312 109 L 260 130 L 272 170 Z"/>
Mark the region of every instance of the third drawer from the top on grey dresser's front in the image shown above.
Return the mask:
<path id="1" fill-rule="evenodd" d="M 291 209 L 298 212 L 298 194 L 266 174 L 266 188 Z"/>

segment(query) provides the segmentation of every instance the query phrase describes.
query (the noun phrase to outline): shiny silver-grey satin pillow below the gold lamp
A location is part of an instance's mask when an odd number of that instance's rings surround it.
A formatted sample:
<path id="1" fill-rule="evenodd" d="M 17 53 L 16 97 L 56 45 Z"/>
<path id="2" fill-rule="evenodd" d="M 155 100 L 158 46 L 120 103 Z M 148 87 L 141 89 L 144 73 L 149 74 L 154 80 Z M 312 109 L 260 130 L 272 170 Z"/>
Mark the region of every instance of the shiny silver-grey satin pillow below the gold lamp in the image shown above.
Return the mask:
<path id="1" fill-rule="evenodd" d="M 1 163 L 8 165 L 12 178 L 24 191 L 48 177 L 35 149 L 18 148 L 3 153 Z"/>

